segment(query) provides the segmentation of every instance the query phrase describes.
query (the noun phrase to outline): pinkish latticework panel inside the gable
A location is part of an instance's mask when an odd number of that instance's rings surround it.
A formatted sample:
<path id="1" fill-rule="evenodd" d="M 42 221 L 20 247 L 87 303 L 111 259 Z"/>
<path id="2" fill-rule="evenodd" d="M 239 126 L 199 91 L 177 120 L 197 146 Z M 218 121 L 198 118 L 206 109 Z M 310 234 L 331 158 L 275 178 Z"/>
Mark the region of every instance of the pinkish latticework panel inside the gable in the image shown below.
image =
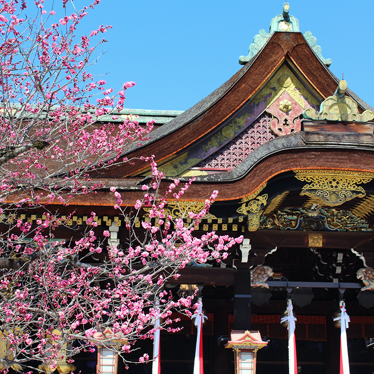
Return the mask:
<path id="1" fill-rule="evenodd" d="M 270 120 L 268 114 L 263 114 L 246 131 L 202 160 L 196 165 L 197 169 L 228 171 L 237 167 L 256 148 L 275 138 L 270 130 Z"/>

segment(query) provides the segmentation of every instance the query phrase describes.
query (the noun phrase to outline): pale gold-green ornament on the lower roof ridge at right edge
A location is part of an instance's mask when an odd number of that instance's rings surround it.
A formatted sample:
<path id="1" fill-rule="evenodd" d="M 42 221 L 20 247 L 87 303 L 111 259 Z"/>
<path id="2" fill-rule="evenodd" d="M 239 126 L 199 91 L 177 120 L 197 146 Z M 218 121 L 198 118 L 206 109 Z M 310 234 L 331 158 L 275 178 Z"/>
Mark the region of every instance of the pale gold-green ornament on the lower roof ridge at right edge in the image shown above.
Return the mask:
<path id="1" fill-rule="evenodd" d="M 308 120 L 347 121 L 347 122 L 369 122 L 374 119 L 374 113 L 366 110 L 359 113 L 355 100 L 346 96 L 347 82 L 341 80 L 333 96 L 326 98 L 317 112 L 313 108 L 307 108 L 303 112 L 304 118 Z"/>

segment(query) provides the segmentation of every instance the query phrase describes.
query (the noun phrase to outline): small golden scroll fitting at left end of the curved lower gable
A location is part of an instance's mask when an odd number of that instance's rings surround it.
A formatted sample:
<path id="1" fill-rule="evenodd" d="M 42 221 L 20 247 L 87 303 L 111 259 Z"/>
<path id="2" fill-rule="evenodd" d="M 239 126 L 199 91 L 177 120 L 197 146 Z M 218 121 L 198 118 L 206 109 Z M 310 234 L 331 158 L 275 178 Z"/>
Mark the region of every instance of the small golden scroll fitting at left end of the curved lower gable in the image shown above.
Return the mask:
<path id="1" fill-rule="evenodd" d="M 266 183 L 257 191 L 241 199 L 241 206 L 236 210 L 238 213 L 248 216 L 248 230 L 256 231 L 260 225 L 260 218 L 266 205 L 268 195 L 265 193 L 261 196 L 258 194 L 265 188 Z M 247 202 L 248 201 L 248 202 Z"/>

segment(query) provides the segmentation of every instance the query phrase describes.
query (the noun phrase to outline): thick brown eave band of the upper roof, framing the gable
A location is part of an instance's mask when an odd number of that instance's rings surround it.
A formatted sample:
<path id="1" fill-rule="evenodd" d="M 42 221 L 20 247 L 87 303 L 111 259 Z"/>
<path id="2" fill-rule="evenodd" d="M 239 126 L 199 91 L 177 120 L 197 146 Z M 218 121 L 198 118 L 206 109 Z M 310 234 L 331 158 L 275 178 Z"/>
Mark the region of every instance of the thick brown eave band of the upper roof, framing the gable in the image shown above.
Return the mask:
<path id="1" fill-rule="evenodd" d="M 133 159 L 131 165 L 111 167 L 105 173 L 105 178 L 125 178 L 139 173 L 147 168 L 139 160 L 144 156 L 155 155 L 158 164 L 171 159 L 216 128 L 251 99 L 286 59 L 296 66 L 323 98 L 335 92 L 337 78 L 315 55 L 303 34 L 275 32 L 261 52 L 221 87 L 153 132 L 152 139 L 144 145 L 130 149 L 125 156 Z M 352 96 L 357 98 L 356 95 Z M 362 100 L 359 104 L 361 110 L 368 109 Z"/>

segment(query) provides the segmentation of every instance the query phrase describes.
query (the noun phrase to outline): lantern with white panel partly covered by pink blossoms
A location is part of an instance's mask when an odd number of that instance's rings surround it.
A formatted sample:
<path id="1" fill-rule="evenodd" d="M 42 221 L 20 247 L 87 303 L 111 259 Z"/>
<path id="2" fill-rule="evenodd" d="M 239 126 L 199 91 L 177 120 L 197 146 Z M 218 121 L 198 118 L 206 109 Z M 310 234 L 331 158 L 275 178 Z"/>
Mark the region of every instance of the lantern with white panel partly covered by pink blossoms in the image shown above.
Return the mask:
<path id="1" fill-rule="evenodd" d="M 118 368 L 118 352 L 116 347 L 127 344 L 127 340 L 124 339 L 123 336 L 114 334 L 113 331 L 108 328 L 102 333 L 95 333 L 94 338 L 108 341 L 102 347 L 99 346 L 97 348 L 97 373 L 116 374 Z M 111 346 L 113 346 L 113 349 L 111 349 Z"/>

